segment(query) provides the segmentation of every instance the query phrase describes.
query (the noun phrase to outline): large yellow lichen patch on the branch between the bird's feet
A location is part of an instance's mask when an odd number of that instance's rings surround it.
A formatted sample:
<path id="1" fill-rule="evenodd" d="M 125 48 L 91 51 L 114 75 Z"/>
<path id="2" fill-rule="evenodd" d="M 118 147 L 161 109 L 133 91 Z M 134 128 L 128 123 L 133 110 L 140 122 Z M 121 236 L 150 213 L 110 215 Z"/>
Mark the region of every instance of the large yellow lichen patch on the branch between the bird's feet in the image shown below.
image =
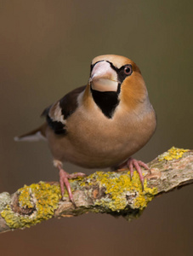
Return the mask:
<path id="1" fill-rule="evenodd" d="M 132 179 L 130 178 L 130 172 L 122 175 L 116 172 L 95 172 L 88 177 L 88 183 L 82 183 L 82 186 L 93 186 L 96 183 L 99 184 L 100 188 L 105 188 L 105 194 L 108 196 L 96 200 L 95 205 L 109 208 L 111 211 L 120 212 L 125 209 L 128 206 L 127 196 L 133 199 L 130 207 L 142 210 L 156 195 L 156 188 L 148 188 L 146 180 L 142 191 L 137 172 L 133 173 Z"/>

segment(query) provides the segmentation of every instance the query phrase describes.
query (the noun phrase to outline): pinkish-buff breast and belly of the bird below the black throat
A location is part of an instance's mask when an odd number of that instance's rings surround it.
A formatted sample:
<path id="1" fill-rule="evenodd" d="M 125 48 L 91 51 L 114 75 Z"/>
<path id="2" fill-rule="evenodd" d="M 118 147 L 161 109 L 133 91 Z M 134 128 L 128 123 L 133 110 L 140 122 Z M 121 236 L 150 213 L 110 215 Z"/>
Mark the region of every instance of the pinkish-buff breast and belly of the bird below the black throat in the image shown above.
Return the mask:
<path id="1" fill-rule="evenodd" d="M 99 108 L 79 108 L 66 122 L 64 137 L 50 133 L 48 142 L 54 158 L 84 167 L 113 166 L 125 160 L 149 140 L 152 131 L 143 127 L 145 119 L 117 108 L 110 119 Z"/>

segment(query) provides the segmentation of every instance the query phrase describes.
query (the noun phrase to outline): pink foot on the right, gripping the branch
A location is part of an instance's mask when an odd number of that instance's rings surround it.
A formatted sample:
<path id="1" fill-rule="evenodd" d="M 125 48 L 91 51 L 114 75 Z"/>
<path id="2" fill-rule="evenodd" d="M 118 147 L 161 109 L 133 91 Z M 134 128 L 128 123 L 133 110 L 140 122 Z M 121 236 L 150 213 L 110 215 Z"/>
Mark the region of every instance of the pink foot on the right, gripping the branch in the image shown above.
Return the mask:
<path id="1" fill-rule="evenodd" d="M 119 166 L 118 171 L 119 172 L 125 171 L 124 167 L 128 167 L 128 169 L 130 170 L 131 178 L 132 178 L 133 177 L 133 168 L 135 168 L 136 171 L 139 173 L 142 190 L 144 190 L 144 176 L 143 176 L 140 166 L 144 167 L 146 170 L 150 170 L 149 166 L 147 166 L 144 162 L 142 162 L 140 160 L 135 160 L 132 157 L 130 157 L 127 161 L 125 161 L 124 163 L 122 163 L 122 165 Z"/>

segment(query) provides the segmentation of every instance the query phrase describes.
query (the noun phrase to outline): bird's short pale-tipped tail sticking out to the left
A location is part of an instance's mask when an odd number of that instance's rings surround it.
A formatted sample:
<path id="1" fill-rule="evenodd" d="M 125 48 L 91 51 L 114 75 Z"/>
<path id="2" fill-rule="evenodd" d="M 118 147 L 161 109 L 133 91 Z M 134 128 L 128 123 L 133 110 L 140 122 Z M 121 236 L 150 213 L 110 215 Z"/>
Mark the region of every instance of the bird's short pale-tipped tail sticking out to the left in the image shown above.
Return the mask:
<path id="1" fill-rule="evenodd" d="M 47 124 L 44 123 L 37 129 L 27 132 L 20 137 L 14 137 L 15 142 L 37 142 L 40 140 L 46 140 L 45 131 L 46 131 Z"/>

